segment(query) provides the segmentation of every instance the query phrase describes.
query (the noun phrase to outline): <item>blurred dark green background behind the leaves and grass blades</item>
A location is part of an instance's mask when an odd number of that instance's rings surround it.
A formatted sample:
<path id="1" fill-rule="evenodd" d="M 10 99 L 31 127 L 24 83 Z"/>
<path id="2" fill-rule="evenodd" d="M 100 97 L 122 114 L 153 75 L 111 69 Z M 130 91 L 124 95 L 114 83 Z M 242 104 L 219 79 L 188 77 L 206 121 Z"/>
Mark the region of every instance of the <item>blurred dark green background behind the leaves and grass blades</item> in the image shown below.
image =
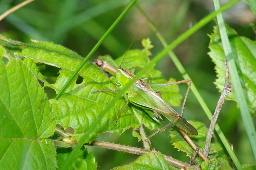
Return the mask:
<path id="1" fill-rule="evenodd" d="M 0 0 L 0 13 L 20 2 L 22 0 Z M 36 0 L 2 20 L 0 34 L 27 43 L 31 38 L 53 41 L 86 56 L 129 2 L 129 0 Z M 146 11 L 169 43 L 201 18 L 214 11 L 212 0 L 138 0 L 137 3 Z M 239 2 L 223 15 L 226 23 L 238 34 L 255 40 L 255 33 L 250 26 L 250 23 L 255 23 L 255 16 L 245 2 Z M 163 48 L 147 23 L 143 24 L 143 22 L 144 18 L 137 8 L 133 7 L 106 38 L 93 58 L 105 54 L 113 58 L 122 55 L 140 27 L 142 29 L 136 36 L 131 49 L 141 49 L 141 40 L 150 37 L 154 45 L 151 57 L 154 57 Z M 214 64 L 207 54 L 210 40 L 207 34 L 212 33 L 214 25 L 215 22 L 211 21 L 174 49 L 212 113 L 220 96 L 213 84 L 216 79 Z M 162 71 L 166 79 L 173 77 L 176 80 L 182 80 L 182 76 L 169 57 L 161 60 L 157 64 L 157 69 Z M 54 82 L 58 76 L 58 69 L 54 67 L 40 65 L 40 70 L 50 82 Z M 187 85 L 179 87 L 184 96 Z M 45 91 L 49 98 L 54 98 L 56 95 L 54 90 L 45 89 Z M 180 111 L 181 108 L 175 109 Z M 201 121 L 207 126 L 210 123 L 192 92 L 189 93 L 186 102 L 184 117 L 188 120 Z M 254 163 L 250 143 L 235 102 L 225 102 L 217 123 L 232 143 L 241 164 Z M 142 147 L 142 142 L 138 143 L 138 140 L 132 137 L 131 132 L 128 130 L 122 135 L 105 133 L 101 134 L 97 140 Z M 153 132 L 146 131 L 146 133 L 150 135 Z M 188 162 L 189 158 L 183 152 L 173 149 L 168 130 L 154 136 L 151 142 L 156 150 Z M 94 147 L 88 147 L 88 150 L 95 155 L 99 169 L 110 169 L 128 164 L 137 157 L 137 155 Z"/>

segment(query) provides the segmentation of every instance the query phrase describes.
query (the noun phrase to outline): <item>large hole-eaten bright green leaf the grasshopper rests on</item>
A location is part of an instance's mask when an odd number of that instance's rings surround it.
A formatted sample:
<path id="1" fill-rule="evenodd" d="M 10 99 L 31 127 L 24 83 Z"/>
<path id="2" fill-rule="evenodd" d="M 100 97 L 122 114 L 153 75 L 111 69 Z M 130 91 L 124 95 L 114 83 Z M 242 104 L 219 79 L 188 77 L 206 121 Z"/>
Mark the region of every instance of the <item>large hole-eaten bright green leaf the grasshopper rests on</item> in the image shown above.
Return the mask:
<path id="1" fill-rule="evenodd" d="M 20 48 L 22 51 L 16 53 L 16 56 L 31 58 L 34 62 L 44 63 L 61 68 L 60 75 L 55 84 L 49 84 L 44 81 L 44 85 L 59 92 L 60 88 L 65 84 L 73 71 L 83 61 L 82 57 L 72 52 L 71 50 L 55 45 L 53 43 L 33 41 L 32 44 L 23 44 L 18 41 L 13 41 L 5 37 L 0 37 L 3 43 L 8 47 Z M 113 60 L 110 56 L 101 57 L 103 60 L 118 67 L 123 60 L 122 67 L 136 67 L 136 70 L 145 67 L 150 60 L 143 50 L 129 50 L 123 56 Z M 38 72 L 34 72 L 34 66 L 30 60 L 25 60 L 31 71 L 39 78 Z M 99 89 L 115 89 L 115 77 L 111 79 L 95 64 L 87 62 L 83 69 L 79 72 L 83 77 L 81 84 L 76 84 L 75 80 L 66 89 L 66 94 L 62 95 L 59 100 L 51 99 L 53 113 L 55 114 L 55 122 L 60 123 L 64 128 L 72 127 L 75 130 L 74 138 L 79 140 L 84 132 L 89 128 L 89 125 L 97 118 L 97 115 L 104 109 L 106 105 L 114 98 L 115 92 L 98 92 L 91 94 L 94 90 Z M 145 74 L 145 77 L 150 77 L 150 82 L 165 83 L 161 72 L 150 69 Z M 40 80 L 42 78 L 39 78 Z M 174 81 L 174 80 L 172 80 Z M 180 104 L 181 96 L 179 95 L 177 85 L 168 86 L 163 89 L 163 98 L 173 106 Z M 172 94 L 172 95 L 167 95 Z M 171 97 L 171 99 L 170 99 Z M 174 100 L 173 100 L 174 99 Z M 171 102 L 170 102 L 171 101 Z M 114 125 L 115 118 L 125 105 L 125 100 L 120 99 L 119 102 L 112 107 L 111 112 L 105 115 L 101 123 L 91 133 L 90 139 L 95 139 L 100 133 L 110 131 L 111 133 L 123 133 L 129 128 L 137 129 L 140 123 L 144 123 L 149 129 L 160 128 L 159 123 L 153 120 L 144 110 L 139 107 L 127 107 L 119 117 L 117 124 Z M 136 134 L 136 133 L 133 133 Z M 138 136 L 138 135 L 136 135 Z M 86 141 L 89 142 L 89 141 Z"/>

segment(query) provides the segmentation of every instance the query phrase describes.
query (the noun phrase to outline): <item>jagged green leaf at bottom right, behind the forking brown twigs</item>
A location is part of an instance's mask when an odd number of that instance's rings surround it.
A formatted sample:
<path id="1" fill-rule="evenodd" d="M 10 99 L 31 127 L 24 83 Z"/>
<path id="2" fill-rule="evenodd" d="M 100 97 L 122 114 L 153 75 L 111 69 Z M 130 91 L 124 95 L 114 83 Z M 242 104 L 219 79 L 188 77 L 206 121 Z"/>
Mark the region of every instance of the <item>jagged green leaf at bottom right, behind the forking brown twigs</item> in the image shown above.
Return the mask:
<path id="1" fill-rule="evenodd" d="M 189 122 L 197 129 L 197 132 L 198 132 L 197 136 L 194 136 L 194 135 L 189 135 L 189 136 L 194 141 L 196 146 L 200 148 L 200 151 L 203 152 L 208 129 L 201 122 L 194 122 L 194 121 L 189 121 Z M 171 136 L 171 143 L 174 146 L 174 148 L 177 148 L 179 151 L 183 151 L 187 153 L 187 156 L 189 157 L 193 155 L 194 153 L 193 148 L 190 147 L 190 145 L 187 143 L 187 141 L 184 139 L 181 133 L 177 130 L 177 128 L 174 127 L 170 130 L 170 136 Z M 228 164 L 227 155 L 225 154 L 225 151 L 221 143 L 219 143 L 215 135 L 213 135 L 211 140 L 211 146 L 210 146 L 210 152 L 209 152 L 208 158 L 210 159 L 216 158 L 218 162 L 221 162 L 224 165 L 225 169 L 231 169 L 231 167 Z M 195 161 L 197 165 L 202 164 L 202 159 L 198 155 L 195 157 Z"/>

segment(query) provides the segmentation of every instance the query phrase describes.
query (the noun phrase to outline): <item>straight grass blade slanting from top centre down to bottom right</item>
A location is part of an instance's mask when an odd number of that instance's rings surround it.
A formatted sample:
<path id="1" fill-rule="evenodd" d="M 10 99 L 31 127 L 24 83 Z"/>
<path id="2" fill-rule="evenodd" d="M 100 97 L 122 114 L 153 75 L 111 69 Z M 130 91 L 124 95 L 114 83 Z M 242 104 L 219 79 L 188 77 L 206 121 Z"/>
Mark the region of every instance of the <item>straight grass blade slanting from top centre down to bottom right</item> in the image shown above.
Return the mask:
<path id="1" fill-rule="evenodd" d="M 151 27 L 153 32 L 156 34 L 156 36 L 160 40 L 160 42 L 163 45 L 163 47 L 166 48 L 168 46 L 167 41 L 163 38 L 163 36 L 160 34 L 160 32 L 156 29 L 156 27 L 154 26 L 153 22 L 150 20 L 150 18 L 147 16 L 147 14 L 142 10 L 142 8 L 138 4 L 136 4 L 136 7 L 141 12 L 141 14 L 145 17 L 145 19 L 147 20 L 149 26 Z M 182 77 L 184 79 L 190 79 L 190 77 L 189 77 L 188 73 L 186 72 L 185 68 L 183 67 L 183 65 L 181 64 L 181 62 L 177 58 L 177 56 L 173 53 L 173 51 L 169 51 L 168 55 L 170 56 L 170 58 L 173 61 L 174 65 L 176 66 L 176 68 L 181 73 Z M 198 90 L 197 90 L 197 88 L 196 88 L 196 86 L 195 86 L 195 84 L 193 82 L 192 82 L 190 88 L 191 88 L 191 91 L 193 92 L 193 94 L 195 95 L 195 97 L 197 98 L 197 101 L 199 102 L 199 104 L 203 108 L 203 111 L 205 112 L 205 114 L 207 115 L 209 120 L 211 120 L 212 119 L 211 111 L 208 108 L 208 106 L 206 105 L 205 101 L 203 100 L 202 96 L 198 92 Z M 234 154 L 233 150 L 231 149 L 231 147 L 230 147 L 230 145 L 228 143 L 228 140 L 226 139 L 225 135 L 223 134 L 223 132 L 219 128 L 218 124 L 215 125 L 215 130 L 216 130 L 219 138 L 221 139 L 223 145 L 225 146 L 226 150 L 228 151 L 231 159 L 233 160 L 234 164 L 236 165 L 236 167 L 238 169 L 242 168 L 241 164 L 239 163 L 239 160 L 238 160 L 237 156 Z"/>

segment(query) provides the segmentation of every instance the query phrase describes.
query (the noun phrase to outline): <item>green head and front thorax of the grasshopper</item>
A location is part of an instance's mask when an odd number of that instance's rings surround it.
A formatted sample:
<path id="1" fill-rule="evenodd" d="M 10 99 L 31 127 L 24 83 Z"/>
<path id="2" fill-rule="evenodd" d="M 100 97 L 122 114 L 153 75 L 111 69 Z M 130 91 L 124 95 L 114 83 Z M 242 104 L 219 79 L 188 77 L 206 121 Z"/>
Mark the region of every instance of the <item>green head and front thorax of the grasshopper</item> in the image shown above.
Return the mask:
<path id="1" fill-rule="evenodd" d="M 116 70 L 116 84 L 118 86 L 124 87 L 134 77 L 134 74 L 121 67 L 118 67 Z"/>

